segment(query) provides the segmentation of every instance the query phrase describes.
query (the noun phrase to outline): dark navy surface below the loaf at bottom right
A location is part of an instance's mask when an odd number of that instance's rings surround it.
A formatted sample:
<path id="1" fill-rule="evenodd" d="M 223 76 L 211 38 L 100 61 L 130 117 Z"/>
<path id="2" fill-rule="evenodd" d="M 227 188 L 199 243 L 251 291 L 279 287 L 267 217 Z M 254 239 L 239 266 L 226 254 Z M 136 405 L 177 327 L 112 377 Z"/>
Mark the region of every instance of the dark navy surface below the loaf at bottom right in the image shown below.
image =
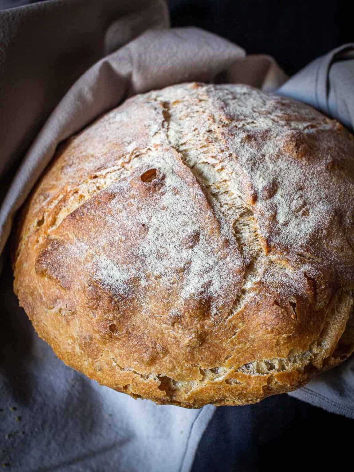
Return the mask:
<path id="1" fill-rule="evenodd" d="M 353 470 L 348 462 L 353 426 L 353 420 L 288 395 L 256 405 L 220 406 L 191 472 Z"/>

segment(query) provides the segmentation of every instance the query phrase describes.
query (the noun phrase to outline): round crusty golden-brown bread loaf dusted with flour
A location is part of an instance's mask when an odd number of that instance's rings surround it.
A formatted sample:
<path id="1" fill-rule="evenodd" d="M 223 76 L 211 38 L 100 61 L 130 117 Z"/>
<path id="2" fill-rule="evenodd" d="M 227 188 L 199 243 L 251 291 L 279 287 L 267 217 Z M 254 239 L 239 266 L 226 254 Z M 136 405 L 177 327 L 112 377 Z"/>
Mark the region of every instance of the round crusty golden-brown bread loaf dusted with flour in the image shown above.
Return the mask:
<path id="1" fill-rule="evenodd" d="M 59 146 L 15 291 L 67 365 L 160 404 L 243 405 L 354 349 L 354 139 L 245 85 L 137 95 Z"/>

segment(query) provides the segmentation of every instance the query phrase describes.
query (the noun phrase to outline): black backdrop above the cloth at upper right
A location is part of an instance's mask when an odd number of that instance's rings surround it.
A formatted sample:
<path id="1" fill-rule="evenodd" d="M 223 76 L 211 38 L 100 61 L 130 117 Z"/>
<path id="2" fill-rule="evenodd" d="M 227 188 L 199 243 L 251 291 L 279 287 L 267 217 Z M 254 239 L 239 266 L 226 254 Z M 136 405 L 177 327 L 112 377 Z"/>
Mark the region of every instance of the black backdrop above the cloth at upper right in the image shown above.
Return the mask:
<path id="1" fill-rule="evenodd" d="M 354 40 L 344 0 L 169 0 L 172 26 L 199 26 L 248 54 L 270 54 L 287 74 Z M 351 23 L 351 24 L 350 24 Z"/>

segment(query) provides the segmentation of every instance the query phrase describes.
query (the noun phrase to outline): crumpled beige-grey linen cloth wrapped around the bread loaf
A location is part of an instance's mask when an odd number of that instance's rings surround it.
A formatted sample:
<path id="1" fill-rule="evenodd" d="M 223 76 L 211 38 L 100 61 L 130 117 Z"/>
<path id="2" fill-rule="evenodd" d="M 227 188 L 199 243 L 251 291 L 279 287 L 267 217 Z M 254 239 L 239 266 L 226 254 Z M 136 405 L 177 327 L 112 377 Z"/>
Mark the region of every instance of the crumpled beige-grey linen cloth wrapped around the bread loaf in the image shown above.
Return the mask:
<path id="1" fill-rule="evenodd" d="M 169 29 L 163 0 L 51 0 L 5 10 L 0 46 L 3 462 L 29 472 L 188 471 L 215 407 L 185 410 L 135 401 L 67 368 L 18 307 L 6 242 L 16 211 L 58 143 L 127 97 L 194 80 L 275 91 L 287 76 L 272 58 L 246 56 L 214 34 Z M 288 90 L 285 83 L 280 93 L 295 95 L 300 83 Z M 306 101 L 310 88 L 298 98 Z M 316 380 L 328 404 L 309 394 L 311 383 L 305 396 L 297 396 L 354 417 L 347 396 L 354 382 L 346 377 L 353 361 L 344 365 Z M 346 385 L 346 395 L 333 385 Z M 15 430 L 14 411 L 22 421 Z"/>

